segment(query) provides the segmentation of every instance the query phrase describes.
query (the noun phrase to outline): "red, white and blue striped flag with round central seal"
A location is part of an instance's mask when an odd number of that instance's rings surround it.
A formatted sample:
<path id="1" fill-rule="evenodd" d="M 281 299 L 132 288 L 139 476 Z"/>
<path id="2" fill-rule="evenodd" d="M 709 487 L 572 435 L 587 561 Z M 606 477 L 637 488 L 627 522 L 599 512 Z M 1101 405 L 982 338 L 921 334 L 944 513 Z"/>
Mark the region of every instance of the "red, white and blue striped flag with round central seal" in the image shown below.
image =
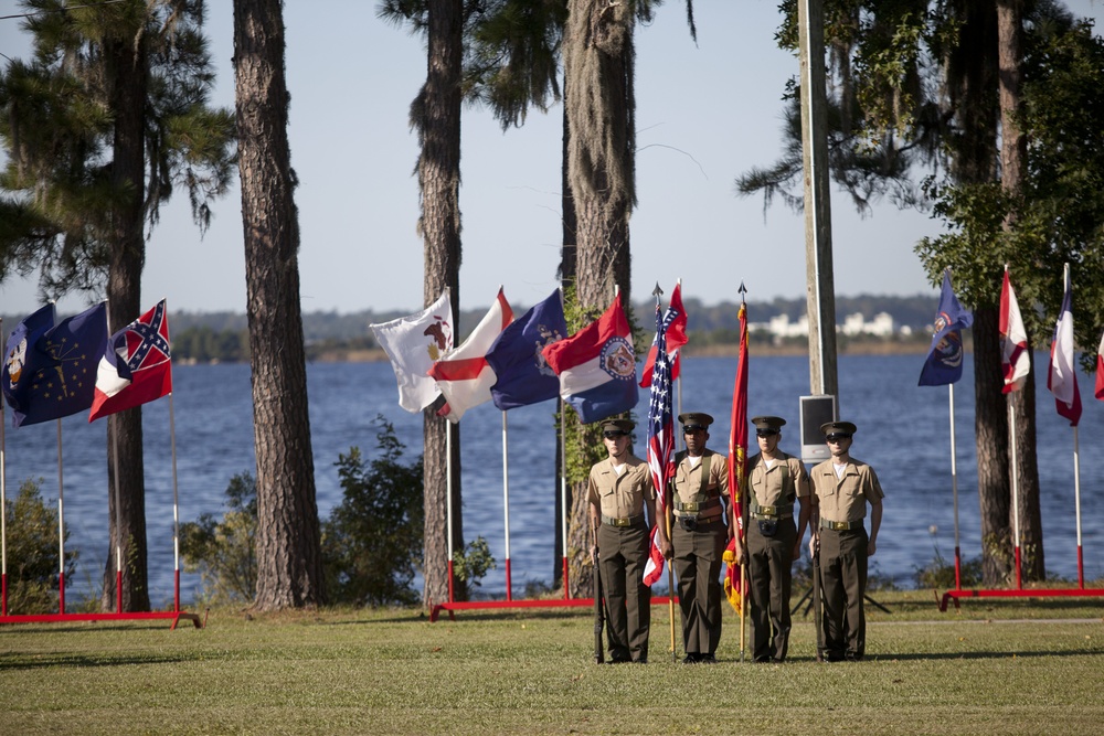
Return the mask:
<path id="1" fill-rule="evenodd" d="M 597 320 L 543 350 L 560 377 L 560 395 L 583 424 L 628 412 L 640 396 L 636 387 L 636 354 L 620 295 Z"/>

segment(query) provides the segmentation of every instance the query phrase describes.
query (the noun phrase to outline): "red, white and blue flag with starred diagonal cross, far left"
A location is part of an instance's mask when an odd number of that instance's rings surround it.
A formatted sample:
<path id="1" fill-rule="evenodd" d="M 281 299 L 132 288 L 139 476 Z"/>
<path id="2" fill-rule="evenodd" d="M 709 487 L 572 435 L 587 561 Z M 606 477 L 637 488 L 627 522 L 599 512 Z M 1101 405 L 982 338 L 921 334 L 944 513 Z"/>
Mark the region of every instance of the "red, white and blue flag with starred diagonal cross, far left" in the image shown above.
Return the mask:
<path id="1" fill-rule="evenodd" d="M 112 335 L 99 359 L 88 422 L 172 393 L 164 299 Z"/>

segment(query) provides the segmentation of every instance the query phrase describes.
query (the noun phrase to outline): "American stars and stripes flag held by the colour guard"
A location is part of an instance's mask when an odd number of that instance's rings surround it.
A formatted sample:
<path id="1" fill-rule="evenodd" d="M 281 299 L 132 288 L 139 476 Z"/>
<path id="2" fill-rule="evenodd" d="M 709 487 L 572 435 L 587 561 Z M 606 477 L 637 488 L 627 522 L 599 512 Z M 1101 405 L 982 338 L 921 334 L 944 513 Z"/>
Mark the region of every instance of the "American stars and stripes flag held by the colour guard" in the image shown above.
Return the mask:
<path id="1" fill-rule="evenodd" d="M 648 403 L 648 468 L 656 487 L 656 515 L 666 518 L 664 490 L 670 477 L 668 462 L 675 445 L 675 422 L 671 417 L 671 359 L 667 354 L 667 328 L 680 312 L 673 305 L 660 317 L 656 306 L 656 363 L 651 373 L 651 399 Z M 658 523 L 658 520 L 657 520 Z M 651 552 L 644 568 L 645 585 L 655 585 L 664 573 L 664 556 L 651 532 Z"/>

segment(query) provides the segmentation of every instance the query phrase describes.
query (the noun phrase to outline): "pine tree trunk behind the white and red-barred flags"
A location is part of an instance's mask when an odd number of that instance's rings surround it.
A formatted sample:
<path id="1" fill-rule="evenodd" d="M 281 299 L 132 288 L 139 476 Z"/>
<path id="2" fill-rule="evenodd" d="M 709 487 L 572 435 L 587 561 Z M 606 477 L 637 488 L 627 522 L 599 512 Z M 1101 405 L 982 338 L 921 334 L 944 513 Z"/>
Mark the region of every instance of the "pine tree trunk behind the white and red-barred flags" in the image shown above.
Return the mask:
<path id="1" fill-rule="evenodd" d="M 428 63 L 417 125 L 422 136 L 418 184 L 422 192 L 421 231 L 425 248 L 425 303 L 436 301 L 445 287 L 452 289 L 454 320 L 460 310 L 460 70 L 463 58 L 464 7 L 461 0 L 429 2 Z M 412 117 L 414 117 L 412 115 Z M 453 326 L 454 340 L 459 340 Z M 432 606 L 448 600 L 448 462 L 446 433 L 453 439 L 452 530 L 454 552 L 464 548 L 464 518 L 460 506 L 459 427 L 436 416 L 438 399 L 425 410 L 425 589 L 423 602 Z M 458 586 L 457 599 L 466 598 Z"/>

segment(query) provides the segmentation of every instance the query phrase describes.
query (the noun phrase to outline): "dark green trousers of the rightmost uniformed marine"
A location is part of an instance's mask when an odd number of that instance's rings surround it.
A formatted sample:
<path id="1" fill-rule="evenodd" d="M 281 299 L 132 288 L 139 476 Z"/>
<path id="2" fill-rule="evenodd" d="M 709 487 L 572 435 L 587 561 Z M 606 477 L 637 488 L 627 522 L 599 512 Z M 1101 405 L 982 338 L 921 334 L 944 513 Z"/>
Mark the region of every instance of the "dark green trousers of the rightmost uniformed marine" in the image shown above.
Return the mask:
<path id="1" fill-rule="evenodd" d="M 825 657 L 862 659 L 867 648 L 867 530 L 820 530 L 820 587 Z"/>

